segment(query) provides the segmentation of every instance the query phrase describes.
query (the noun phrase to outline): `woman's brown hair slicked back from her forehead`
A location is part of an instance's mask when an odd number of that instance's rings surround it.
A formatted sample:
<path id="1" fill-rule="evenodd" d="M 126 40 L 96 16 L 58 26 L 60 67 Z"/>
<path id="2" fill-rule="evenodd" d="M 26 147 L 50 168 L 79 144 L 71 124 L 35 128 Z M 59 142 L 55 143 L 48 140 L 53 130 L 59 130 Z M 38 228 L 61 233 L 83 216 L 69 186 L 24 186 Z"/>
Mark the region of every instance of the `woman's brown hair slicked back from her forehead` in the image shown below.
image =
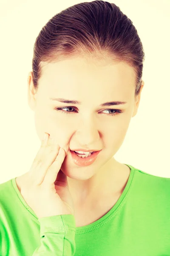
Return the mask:
<path id="1" fill-rule="evenodd" d="M 32 59 L 35 90 L 44 64 L 84 54 L 125 61 L 135 71 L 135 97 L 139 94 L 145 57 L 142 42 L 132 21 L 120 8 L 101 0 L 71 6 L 42 27 Z"/>

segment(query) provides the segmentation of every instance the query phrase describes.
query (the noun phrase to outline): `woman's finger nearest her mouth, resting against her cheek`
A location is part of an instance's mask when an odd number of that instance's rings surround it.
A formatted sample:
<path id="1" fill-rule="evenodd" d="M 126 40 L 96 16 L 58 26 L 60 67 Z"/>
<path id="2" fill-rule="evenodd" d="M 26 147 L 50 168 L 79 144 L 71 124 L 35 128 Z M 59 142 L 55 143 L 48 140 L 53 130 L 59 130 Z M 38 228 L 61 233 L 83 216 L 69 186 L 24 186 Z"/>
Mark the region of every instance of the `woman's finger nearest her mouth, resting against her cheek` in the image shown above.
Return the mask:
<path id="1" fill-rule="evenodd" d="M 42 182 L 44 186 L 51 186 L 52 184 L 54 184 L 64 159 L 65 150 L 63 148 L 60 148 L 59 154 L 57 155 L 51 166 L 48 168 L 48 171 L 44 177 L 44 180 Z"/>

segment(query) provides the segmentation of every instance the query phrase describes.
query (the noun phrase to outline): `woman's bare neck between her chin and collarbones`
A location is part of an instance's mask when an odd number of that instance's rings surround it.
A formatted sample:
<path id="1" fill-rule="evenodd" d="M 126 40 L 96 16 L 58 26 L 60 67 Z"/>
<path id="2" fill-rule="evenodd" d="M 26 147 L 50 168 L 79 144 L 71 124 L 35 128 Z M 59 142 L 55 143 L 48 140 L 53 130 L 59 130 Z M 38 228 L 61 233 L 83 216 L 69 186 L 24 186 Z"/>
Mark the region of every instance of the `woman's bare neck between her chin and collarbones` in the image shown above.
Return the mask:
<path id="1" fill-rule="evenodd" d="M 129 175 L 128 166 L 111 158 L 87 180 L 77 180 L 67 176 L 74 205 L 77 207 L 90 205 L 100 201 L 101 198 L 119 195 L 124 190 Z"/>

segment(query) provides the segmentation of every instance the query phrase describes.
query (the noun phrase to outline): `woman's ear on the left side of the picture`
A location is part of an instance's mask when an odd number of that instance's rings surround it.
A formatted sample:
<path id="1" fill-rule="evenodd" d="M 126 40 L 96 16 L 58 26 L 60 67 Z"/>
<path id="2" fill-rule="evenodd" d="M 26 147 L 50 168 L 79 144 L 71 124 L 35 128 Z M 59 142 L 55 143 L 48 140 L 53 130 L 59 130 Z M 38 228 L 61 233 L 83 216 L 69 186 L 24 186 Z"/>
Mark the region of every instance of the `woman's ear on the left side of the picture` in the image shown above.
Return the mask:
<path id="1" fill-rule="evenodd" d="M 36 106 L 36 91 L 32 81 L 32 72 L 28 73 L 28 105 L 34 111 Z"/>

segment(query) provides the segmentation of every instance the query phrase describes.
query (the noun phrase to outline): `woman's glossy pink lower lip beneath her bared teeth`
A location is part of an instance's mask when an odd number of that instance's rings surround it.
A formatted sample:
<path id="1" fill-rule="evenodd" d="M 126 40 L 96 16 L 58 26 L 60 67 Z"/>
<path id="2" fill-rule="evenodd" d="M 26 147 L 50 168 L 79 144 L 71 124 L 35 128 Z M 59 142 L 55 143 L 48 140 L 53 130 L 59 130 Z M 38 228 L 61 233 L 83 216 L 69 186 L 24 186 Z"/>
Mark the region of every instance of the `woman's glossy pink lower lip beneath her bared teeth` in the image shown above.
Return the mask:
<path id="1" fill-rule="evenodd" d="M 96 160 L 100 151 L 102 151 L 102 150 L 96 151 L 96 152 L 92 153 L 89 157 L 85 157 L 85 158 L 78 157 L 74 151 L 71 151 L 71 157 L 72 157 L 73 162 L 77 166 L 89 166 L 92 163 L 94 163 L 94 161 Z"/>

